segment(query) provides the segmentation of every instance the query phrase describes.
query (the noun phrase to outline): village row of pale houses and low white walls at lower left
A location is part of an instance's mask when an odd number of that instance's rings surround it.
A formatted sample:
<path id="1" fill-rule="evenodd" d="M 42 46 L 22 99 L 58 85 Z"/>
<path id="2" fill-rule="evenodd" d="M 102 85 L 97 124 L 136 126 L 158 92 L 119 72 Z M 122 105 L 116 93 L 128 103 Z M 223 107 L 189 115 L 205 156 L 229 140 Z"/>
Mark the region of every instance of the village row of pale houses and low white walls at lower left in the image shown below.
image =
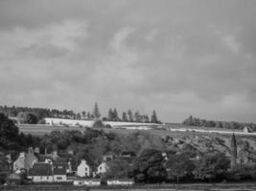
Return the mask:
<path id="1" fill-rule="evenodd" d="M 124 153 L 124 157 L 126 153 Z M 25 173 L 27 179 L 33 182 L 73 182 L 74 185 L 99 185 L 100 175 L 107 171 L 107 160 L 112 156 L 104 156 L 103 161 L 92 168 L 85 159 L 81 159 L 79 164 L 71 160 L 59 161 L 58 151 L 51 154 L 45 151 L 44 155 L 39 155 L 38 149 L 29 148 L 28 152 L 21 152 L 17 159 L 12 162 L 12 170 L 15 174 Z M 15 177 L 15 176 L 14 176 Z M 133 180 L 108 180 L 108 185 L 133 184 Z"/>

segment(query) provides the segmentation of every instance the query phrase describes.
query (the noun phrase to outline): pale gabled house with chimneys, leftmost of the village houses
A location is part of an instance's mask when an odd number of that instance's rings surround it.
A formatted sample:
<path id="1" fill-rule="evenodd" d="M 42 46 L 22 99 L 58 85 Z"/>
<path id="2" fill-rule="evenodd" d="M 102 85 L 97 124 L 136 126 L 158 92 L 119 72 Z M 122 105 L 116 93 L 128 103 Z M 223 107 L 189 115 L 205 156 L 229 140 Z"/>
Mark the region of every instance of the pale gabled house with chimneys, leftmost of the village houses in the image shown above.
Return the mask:
<path id="1" fill-rule="evenodd" d="M 21 152 L 18 159 L 13 162 L 13 170 L 26 169 L 29 170 L 32 168 L 34 162 L 37 161 L 37 158 L 34 155 L 34 150 L 32 147 L 29 148 L 28 153 Z"/>

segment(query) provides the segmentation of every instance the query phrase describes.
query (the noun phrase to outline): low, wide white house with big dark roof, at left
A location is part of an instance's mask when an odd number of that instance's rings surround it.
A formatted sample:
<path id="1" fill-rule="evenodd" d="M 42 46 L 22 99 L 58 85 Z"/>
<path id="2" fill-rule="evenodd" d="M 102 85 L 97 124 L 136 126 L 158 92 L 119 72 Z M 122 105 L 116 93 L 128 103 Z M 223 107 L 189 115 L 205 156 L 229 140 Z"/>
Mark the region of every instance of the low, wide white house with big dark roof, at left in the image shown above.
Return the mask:
<path id="1" fill-rule="evenodd" d="M 33 168 L 29 170 L 28 178 L 34 182 L 53 182 L 52 165 L 45 162 L 35 162 Z"/>

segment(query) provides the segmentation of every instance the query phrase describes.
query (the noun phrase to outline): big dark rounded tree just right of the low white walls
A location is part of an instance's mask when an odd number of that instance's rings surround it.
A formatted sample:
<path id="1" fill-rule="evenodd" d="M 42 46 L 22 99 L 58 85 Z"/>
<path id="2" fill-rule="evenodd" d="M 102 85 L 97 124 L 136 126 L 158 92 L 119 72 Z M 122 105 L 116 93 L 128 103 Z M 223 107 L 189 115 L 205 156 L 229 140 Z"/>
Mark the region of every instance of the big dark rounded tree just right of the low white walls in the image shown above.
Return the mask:
<path id="1" fill-rule="evenodd" d="M 166 178 L 162 152 L 145 149 L 133 163 L 133 176 L 136 181 L 162 182 Z"/>

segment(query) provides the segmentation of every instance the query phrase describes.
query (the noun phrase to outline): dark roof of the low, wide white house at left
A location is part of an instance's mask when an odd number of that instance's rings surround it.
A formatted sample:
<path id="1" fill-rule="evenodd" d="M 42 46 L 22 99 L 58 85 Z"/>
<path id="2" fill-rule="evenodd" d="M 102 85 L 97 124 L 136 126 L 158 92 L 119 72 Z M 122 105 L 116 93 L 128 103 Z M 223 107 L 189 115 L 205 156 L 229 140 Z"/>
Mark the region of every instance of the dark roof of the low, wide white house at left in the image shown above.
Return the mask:
<path id="1" fill-rule="evenodd" d="M 52 165 L 49 163 L 36 162 L 29 170 L 29 176 L 52 176 Z"/>

